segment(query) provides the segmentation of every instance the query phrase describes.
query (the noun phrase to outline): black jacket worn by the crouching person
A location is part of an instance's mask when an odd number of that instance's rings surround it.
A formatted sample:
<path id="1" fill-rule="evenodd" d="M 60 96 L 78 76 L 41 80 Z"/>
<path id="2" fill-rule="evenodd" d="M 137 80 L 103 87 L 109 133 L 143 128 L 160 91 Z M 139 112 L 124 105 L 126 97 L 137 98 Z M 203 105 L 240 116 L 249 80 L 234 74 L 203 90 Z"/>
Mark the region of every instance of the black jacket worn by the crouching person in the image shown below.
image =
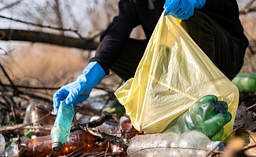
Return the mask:
<path id="1" fill-rule="evenodd" d="M 149 4 L 152 2 L 154 5 Z M 95 57 L 91 58 L 90 61 L 97 61 L 101 64 L 105 74 L 108 75 L 112 64 L 126 46 L 126 41 L 130 37 L 133 27 L 141 24 L 149 40 L 159 17 L 163 13 L 164 3 L 165 0 L 120 0 L 119 15 L 115 16 L 112 24 L 101 35 Z M 236 0 L 206 0 L 205 5 L 200 10 L 218 21 L 232 36 L 240 38 L 241 48 L 245 51 L 248 41 L 243 34 Z"/>

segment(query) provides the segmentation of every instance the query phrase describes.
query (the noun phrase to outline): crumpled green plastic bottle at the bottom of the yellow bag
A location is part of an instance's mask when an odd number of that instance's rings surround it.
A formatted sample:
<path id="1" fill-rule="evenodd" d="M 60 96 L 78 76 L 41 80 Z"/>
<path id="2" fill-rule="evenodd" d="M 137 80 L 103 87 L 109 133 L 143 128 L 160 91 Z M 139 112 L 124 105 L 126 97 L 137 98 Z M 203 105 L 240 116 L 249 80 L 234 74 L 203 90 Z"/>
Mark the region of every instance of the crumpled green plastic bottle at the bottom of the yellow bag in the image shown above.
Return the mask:
<path id="1" fill-rule="evenodd" d="M 212 139 L 231 119 L 232 115 L 225 101 L 218 100 L 214 95 L 206 95 L 197 100 L 188 111 L 170 122 L 163 133 L 181 134 L 195 130 Z"/>

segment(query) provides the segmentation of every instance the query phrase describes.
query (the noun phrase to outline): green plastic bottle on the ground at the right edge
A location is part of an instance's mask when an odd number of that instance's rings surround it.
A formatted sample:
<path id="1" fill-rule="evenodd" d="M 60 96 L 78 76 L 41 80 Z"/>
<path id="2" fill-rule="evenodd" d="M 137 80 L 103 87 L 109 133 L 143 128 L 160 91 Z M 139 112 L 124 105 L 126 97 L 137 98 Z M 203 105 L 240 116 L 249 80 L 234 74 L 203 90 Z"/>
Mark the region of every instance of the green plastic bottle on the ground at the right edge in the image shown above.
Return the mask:
<path id="1" fill-rule="evenodd" d="M 254 93 L 256 91 L 256 73 L 239 73 L 232 82 L 240 92 Z"/>

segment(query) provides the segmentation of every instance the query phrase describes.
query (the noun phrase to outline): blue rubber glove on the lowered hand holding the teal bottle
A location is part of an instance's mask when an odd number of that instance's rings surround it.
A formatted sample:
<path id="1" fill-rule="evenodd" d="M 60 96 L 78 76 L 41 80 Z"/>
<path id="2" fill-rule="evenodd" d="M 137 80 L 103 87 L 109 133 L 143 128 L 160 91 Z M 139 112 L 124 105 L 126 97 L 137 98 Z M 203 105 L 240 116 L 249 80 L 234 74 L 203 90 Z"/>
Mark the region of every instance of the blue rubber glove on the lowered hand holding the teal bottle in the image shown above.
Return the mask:
<path id="1" fill-rule="evenodd" d="M 94 86 L 97 86 L 104 79 L 105 72 L 97 61 L 90 62 L 82 71 L 82 75 L 68 85 L 62 86 L 53 96 L 53 109 L 57 115 L 60 101 L 66 100 L 66 104 L 81 103 L 90 96 Z"/>

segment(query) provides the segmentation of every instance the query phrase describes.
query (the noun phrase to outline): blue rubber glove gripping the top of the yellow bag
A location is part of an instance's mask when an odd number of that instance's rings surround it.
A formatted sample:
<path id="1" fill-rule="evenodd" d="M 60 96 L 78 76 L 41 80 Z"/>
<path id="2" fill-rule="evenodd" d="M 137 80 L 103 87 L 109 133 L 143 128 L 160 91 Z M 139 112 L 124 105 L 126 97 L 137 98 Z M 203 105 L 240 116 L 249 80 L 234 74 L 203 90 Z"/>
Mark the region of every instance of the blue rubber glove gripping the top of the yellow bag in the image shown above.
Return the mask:
<path id="1" fill-rule="evenodd" d="M 187 20 L 194 14 L 194 9 L 201 9 L 206 0 L 166 0 L 163 8 L 165 15 L 171 15 L 180 20 Z"/>

